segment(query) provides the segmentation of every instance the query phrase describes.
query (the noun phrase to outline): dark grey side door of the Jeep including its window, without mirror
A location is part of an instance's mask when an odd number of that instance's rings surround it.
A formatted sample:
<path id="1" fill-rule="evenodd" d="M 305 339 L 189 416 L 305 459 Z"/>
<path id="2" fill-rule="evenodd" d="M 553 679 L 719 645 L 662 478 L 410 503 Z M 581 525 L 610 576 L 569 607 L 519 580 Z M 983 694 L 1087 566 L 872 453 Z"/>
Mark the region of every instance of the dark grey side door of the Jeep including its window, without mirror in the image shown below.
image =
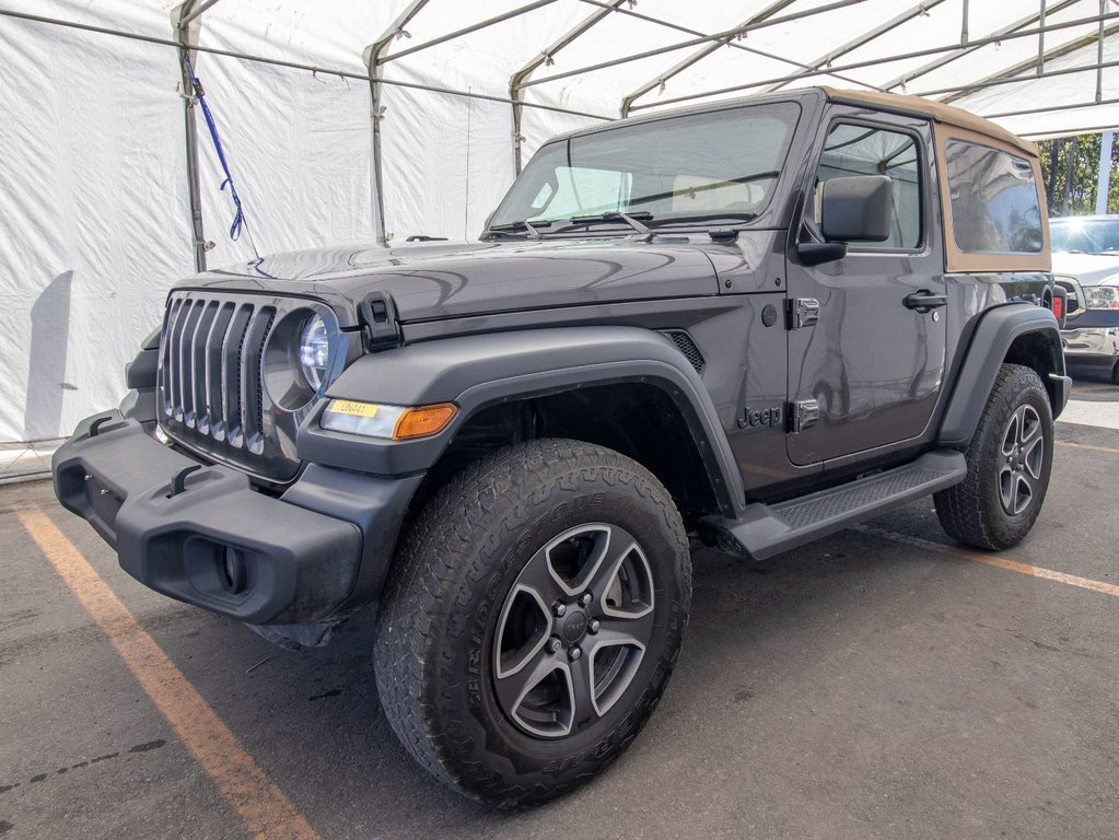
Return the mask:
<path id="1" fill-rule="evenodd" d="M 789 256 L 789 459 L 817 464 L 927 433 L 944 376 L 946 294 L 932 135 L 928 122 L 835 107 L 817 141 L 801 240 L 817 238 L 821 185 L 846 176 L 893 180 L 891 235 L 850 243 L 841 259 Z"/>

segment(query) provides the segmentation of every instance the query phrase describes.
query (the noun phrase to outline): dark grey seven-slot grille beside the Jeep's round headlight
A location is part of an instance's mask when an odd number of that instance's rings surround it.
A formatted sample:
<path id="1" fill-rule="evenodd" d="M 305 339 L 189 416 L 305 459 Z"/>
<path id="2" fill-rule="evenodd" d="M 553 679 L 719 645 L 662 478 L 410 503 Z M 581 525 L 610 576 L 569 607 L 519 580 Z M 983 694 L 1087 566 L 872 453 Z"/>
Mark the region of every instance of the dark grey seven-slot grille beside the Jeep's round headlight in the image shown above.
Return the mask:
<path id="1" fill-rule="evenodd" d="M 295 428 L 263 386 L 269 331 L 298 302 L 175 292 L 160 343 L 160 424 L 177 441 L 265 479 L 294 476 Z"/>

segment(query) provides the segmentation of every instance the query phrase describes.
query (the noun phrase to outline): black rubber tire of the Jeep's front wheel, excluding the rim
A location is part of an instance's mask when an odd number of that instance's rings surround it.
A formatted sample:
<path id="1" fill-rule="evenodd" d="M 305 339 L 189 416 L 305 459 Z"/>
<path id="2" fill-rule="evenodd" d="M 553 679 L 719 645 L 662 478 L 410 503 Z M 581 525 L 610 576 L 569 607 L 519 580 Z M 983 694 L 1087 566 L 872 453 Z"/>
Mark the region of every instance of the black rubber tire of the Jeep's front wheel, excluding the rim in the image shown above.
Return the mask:
<path id="1" fill-rule="evenodd" d="M 523 569 L 587 522 L 609 523 L 640 545 L 655 587 L 649 643 L 601 717 L 595 705 L 595 717 L 577 727 L 573 720 L 570 735 L 534 737 L 498 699 L 496 630 Z M 690 593 L 679 512 L 641 465 L 576 441 L 500 449 L 435 494 L 397 554 L 377 619 L 385 714 L 412 756 L 468 796 L 498 806 L 552 799 L 602 772 L 645 725 L 679 654 Z M 574 691 L 570 699 L 574 709 Z"/>

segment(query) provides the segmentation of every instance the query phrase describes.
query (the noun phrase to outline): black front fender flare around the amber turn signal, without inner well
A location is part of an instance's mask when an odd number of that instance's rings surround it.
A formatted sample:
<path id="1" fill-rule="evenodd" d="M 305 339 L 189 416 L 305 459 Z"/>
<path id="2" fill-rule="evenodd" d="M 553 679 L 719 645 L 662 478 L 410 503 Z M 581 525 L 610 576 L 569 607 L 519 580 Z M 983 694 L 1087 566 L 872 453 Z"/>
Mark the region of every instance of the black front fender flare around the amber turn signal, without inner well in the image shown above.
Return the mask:
<path id="1" fill-rule="evenodd" d="M 364 356 L 346 369 L 327 397 L 391 405 L 454 403 L 458 415 L 433 437 L 383 441 L 323 430 L 319 425 L 323 399 L 300 426 L 297 450 L 313 463 L 378 475 L 423 472 L 486 406 L 613 383 L 652 385 L 673 399 L 720 507 L 725 516 L 737 516 L 744 499 L 742 475 L 707 389 L 671 341 L 637 327 L 460 336 Z"/>

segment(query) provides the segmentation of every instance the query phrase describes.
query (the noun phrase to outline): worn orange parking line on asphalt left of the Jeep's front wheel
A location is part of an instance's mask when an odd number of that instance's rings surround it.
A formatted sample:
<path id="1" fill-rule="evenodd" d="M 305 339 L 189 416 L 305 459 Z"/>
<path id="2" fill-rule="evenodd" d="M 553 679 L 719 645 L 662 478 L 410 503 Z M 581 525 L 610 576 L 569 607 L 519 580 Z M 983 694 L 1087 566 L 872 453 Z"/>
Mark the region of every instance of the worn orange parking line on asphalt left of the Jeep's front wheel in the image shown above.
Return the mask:
<path id="1" fill-rule="evenodd" d="M 245 752 L 229 727 L 58 527 L 40 510 L 20 510 L 16 516 L 245 828 L 254 837 L 269 840 L 317 840 L 318 833 L 291 800 Z"/>

